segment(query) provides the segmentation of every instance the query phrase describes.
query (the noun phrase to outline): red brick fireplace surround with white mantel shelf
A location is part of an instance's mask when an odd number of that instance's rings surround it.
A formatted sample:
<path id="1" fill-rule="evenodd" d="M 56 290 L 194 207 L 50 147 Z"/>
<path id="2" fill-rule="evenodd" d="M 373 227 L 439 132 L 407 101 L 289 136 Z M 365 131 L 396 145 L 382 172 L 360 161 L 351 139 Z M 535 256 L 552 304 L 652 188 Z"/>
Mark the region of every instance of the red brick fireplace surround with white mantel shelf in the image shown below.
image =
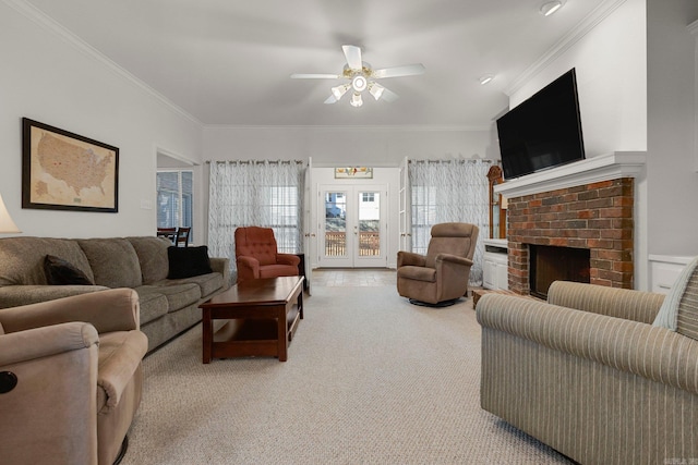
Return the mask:
<path id="1" fill-rule="evenodd" d="M 588 159 L 571 163 L 578 167 L 559 167 L 514 180 L 509 186 L 502 184 L 500 192 L 508 198 L 510 291 L 524 295 L 531 291 L 532 245 L 588 249 L 592 284 L 634 287 L 635 178 L 641 163 L 633 159 L 631 169 L 626 158 L 615 152 L 605 160 Z"/>

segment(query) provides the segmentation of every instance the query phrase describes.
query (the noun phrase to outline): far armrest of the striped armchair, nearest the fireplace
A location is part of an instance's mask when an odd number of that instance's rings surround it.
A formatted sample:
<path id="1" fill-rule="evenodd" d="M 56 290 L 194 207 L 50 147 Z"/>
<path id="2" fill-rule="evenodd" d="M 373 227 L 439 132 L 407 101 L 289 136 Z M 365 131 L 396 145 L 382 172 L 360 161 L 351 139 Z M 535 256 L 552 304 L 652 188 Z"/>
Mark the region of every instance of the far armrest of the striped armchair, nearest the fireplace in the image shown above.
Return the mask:
<path id="1" fill-rule="evenodd" d="M 555 281 L 547 291 L 549 304 L 645 323 L 654 321 L 662 302 L 663 294 L 569 281 Z"/>

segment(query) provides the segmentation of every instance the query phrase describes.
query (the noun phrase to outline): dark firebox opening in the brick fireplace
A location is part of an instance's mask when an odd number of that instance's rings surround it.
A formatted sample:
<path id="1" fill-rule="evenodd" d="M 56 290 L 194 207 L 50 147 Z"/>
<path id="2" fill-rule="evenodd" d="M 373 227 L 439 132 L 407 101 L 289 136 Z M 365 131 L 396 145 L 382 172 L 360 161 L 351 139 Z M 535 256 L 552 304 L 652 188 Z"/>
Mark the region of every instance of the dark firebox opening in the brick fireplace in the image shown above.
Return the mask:
<path id="1" fill-rule="evenodd" d="M 553 281 L 590 282 L 588 248 L 529 245 L 529 285 L 531 295 L 547 298 Z"/>

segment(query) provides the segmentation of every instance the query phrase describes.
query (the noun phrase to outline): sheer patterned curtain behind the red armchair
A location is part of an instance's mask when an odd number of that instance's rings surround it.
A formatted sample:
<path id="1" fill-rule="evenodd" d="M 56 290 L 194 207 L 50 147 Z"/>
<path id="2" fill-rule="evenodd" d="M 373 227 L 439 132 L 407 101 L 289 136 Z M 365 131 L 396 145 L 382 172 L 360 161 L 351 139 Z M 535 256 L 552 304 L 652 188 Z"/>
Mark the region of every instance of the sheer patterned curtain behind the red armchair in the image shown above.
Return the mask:
<path id="1" fill-rule="evenodd" d="M 280 253 L 303 252 L 302 161 L 209 162 L 208 248 L 230 258 L 236 276 L 234 231 L 272 228 Z"/>

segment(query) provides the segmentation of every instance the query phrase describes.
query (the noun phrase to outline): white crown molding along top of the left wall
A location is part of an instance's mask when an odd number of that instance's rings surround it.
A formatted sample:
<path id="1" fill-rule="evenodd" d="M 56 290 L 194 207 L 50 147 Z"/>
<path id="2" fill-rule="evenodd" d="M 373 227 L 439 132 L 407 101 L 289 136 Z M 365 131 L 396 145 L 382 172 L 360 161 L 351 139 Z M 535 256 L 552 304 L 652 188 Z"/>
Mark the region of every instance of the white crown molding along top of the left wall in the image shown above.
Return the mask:
<path id="1" fill-rule="evenodd" d="M 110 60 L 107 56 L 101 53 L 99 50 L 81 39 L 79 36 L 70 32 L 64 26 L 57 23 L 49 15 L 37 9 L 31 3 L 27 3 L 24 0 L 1 0 L 8 7 L 22 14 L 24 17 L 28 19 L 39 27 L 49 33 L 58 36 L 61 40 L 69 44 L 84 56 L 101 63 L 104 66 L 121 76 L 125 81 L 130 82 L 141 90 L 145 91 L 149 96 L 154 97 L 157 101 L 163 103 L 169 110 L 176 112 L 180 117 L 189 120 L 190 122 L 197 124 L 198 126 L 203 126 L 203 123 L 194 118 L 191 113 L 174 105 L 171 100 L 165 97 L 163 94 L 155 90 L 153 87 L 147 85 L 145 82 L 137 78 L 135 75 L 117 64 L 115 61 Z"/>

